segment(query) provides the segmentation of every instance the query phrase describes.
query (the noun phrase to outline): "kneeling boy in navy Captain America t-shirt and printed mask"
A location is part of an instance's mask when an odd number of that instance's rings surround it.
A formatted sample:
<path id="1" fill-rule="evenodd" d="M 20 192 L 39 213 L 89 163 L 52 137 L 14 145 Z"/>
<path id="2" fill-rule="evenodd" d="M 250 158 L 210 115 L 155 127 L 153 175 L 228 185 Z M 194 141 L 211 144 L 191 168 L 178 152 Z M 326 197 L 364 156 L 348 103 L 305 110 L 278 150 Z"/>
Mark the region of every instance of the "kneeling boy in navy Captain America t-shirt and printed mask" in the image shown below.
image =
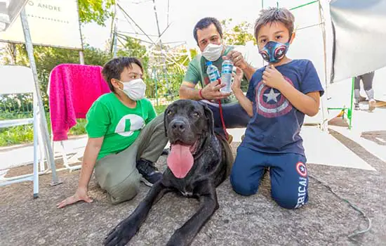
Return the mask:
<path id="1" fill-rule="evenodd" d="M 232 91 L 252 117 L 237 149 L 230 181 L 241 195 L 257 193 L 269 167 L 271 195 L 278 205 L 295 209 L 308 200 L 308 176 L 300 128 L 305 115 L 319 111 L 324 89 L 310 60 L 286 57 L 295 38 L 294 17 L 286 8 L 262 10 L 255 38 L 269 63 L 257 70 L 246 96 L 240 89 L 243 72 L 237 68 Z"/>

